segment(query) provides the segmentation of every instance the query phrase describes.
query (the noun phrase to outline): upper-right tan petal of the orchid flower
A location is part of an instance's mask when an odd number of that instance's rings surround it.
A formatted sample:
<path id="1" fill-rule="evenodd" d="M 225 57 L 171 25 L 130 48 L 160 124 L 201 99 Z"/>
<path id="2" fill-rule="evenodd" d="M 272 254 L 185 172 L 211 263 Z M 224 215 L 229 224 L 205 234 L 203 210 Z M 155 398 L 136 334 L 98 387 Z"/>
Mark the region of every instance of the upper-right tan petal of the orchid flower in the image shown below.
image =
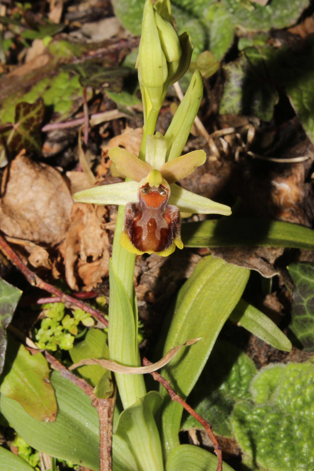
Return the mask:
<path id="1" fill-rule="evenodd" d="M 164 163 L 160 168 L 161 175 L 169 184 L 174 183 L 190 175 L 205 160 L 206 153 L 203 150 L 194 150 Z"/>

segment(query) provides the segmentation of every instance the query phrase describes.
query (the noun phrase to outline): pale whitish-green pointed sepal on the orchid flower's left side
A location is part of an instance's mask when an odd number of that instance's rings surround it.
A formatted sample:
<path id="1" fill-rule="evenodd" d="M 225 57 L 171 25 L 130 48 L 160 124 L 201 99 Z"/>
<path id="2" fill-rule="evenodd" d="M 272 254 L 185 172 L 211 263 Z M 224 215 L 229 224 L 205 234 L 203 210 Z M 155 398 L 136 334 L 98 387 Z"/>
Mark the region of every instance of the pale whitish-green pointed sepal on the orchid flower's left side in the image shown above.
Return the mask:
<path id="1" fill-rule="evenodd" d="M 126 181 L 79 191 L 73 196 L 79 203 L 122 204 L 138 202 L 138 183 Z"/>

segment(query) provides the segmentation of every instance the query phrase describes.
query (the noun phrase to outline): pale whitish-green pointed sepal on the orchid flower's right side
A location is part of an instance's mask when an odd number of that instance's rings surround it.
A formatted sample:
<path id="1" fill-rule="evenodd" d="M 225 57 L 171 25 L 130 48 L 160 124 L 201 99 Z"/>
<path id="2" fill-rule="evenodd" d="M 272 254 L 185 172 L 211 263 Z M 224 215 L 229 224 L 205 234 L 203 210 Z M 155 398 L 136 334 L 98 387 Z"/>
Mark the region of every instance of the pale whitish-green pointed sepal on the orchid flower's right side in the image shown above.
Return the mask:
<path id="1" fill-rule="evenodd" d="M 223 214 L 230 216 L 231 208 L 225 204 L 215 203 L 215 201 L 204 196 L 195 195 L 191 191 L 178 187 L 175 183 L 170 185 L 169 204 L 175 204 L 180 211 L 199 214 Z"/>

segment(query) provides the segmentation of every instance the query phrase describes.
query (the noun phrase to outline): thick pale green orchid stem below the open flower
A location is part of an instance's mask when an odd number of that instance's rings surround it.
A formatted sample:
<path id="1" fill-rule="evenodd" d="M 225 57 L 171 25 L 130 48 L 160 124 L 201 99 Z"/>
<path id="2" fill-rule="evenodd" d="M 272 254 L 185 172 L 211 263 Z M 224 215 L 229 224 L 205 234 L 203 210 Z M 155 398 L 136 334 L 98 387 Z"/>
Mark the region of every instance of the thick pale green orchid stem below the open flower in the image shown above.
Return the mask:
<path id="1" fill-rule="evenodd" d="M 134 299 L 133 277 L 135 255 L 124 249 L 119 237 L 123 226 L 124 206 L 119 206 L 113 239 L 112 269 L 129 298 L 130 309 L 125 309 L 113 275 L 110 276 L 109 331 L 110 358 L 129 366 L 140 366 L 137 346 L 137 308 Z M 127 363 L 125 363 L 127 362 Z M 123 407 L 134 404 L 146 394 L 142 374 L 115 374 Z"/>

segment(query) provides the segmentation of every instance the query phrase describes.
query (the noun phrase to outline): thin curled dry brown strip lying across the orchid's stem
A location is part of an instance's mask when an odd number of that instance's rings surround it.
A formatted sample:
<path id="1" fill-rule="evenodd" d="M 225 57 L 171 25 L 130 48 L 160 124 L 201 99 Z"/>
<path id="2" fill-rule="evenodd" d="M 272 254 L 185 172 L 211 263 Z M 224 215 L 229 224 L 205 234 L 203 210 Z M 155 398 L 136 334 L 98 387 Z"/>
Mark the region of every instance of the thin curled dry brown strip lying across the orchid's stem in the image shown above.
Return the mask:
<path id="1" fill-rule="evenodd" d="M 181 343 L 181 345 L 177 345 L 177 347 L 173 347 L 169 350 L 168 353 L 161 360 L 157 361 L 156 363 L 152 363 L 152 365 L 147 366 L 124 366 L 116 363 L 113 360 L 98 360 L 97 358 L 88 358 L 85 360 L 81 360 L 78 363 L 74 363 L 74 365 L 70 366 L 69 370 L 74 370 L 82 365 L 100 365 L 107 370 L 114 371 L 115 373 L 123 373 L 123 374 L 144 374 L 144 373 L 153 373 L 153 371 L 159 370 L 163 366 L 167 365 L 173 357 L 177 355 L 177 352 L 181 347 L 193 345 L 193 343 L 198 342 L 201 340 L 199 339 L 192 339 L 187 340 L 185 343 Z"/>

